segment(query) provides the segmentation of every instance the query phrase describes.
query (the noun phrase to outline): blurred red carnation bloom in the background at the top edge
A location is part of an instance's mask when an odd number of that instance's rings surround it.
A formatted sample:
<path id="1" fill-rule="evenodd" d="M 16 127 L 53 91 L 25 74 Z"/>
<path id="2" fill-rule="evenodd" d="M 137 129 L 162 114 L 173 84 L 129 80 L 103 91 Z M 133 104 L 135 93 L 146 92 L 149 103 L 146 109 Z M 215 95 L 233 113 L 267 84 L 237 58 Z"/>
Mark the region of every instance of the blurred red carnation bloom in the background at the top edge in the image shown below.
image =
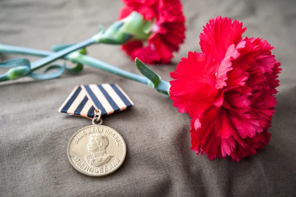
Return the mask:
<path id="1" fill-rule="evenodd" d="M 131 59 L 148 64 L 170 63 L 172 53 L 185 39 L 185 16 L 180 0 L 123 0 L 119 19 L 137 11 L 147 20 L 156 19 L 147 42 L 130 41 L 122 46 Z"/>

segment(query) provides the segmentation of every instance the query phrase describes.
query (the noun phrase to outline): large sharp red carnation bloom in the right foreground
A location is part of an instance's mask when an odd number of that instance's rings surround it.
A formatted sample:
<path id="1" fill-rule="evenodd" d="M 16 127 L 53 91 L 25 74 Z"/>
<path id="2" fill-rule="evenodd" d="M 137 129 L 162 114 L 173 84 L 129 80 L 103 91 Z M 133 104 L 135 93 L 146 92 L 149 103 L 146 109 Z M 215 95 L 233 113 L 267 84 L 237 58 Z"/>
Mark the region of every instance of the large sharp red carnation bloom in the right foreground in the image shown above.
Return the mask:
<path id="1" fill-rule="evenodd" d="M 191 119 L 191 150 L 239 161 L 267 145 L 280 63 L 266 40 L 242 39 L 242 23 L 216 17 L 174 72 L 170 94 Z"/>

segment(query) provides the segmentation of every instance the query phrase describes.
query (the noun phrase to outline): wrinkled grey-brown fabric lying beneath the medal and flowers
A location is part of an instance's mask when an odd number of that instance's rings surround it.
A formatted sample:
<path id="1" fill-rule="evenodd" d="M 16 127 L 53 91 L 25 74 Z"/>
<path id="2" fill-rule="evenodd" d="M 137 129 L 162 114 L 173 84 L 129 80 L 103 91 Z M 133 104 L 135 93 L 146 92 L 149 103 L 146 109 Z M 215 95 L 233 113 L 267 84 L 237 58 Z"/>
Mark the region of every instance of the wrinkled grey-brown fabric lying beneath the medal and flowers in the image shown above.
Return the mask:
<path id="1" fill-rule="evenodd" d="M 267 39 L 282 63 L 270 143 L 240 162 L 190 151 L 189 117 L 147 86 L 85 67 L 58 79 L 0 83 L 0 196 L 276 196 L 296 195 L 296 2 L 294 0 L 183 0 L 187 39 L 172 65 L 155 66 L 170 80 L 187 51 L 200 51 L 199 33 L 217 15 L 238 19 L 245 36 Z M 77 42 L 110 25 L 119 0 L 0 0 L 0 42 L 48 50 Z M 95 45 L 93 57 L 138 73 L 119 46 Z M 16 55 L 1 54 L 1 60 Z M 30 58 L 36 60 L 36 58 Z M 4 70 L 0 70 L 4 72 Z M 77 84 L 118 83 L 134 101 L 130 110 L 104 118 L 126 141 L 127 157 L 115 174 L 88 178 L 67 158 L 72 134 L 91 124 L 59 114 Z"/>

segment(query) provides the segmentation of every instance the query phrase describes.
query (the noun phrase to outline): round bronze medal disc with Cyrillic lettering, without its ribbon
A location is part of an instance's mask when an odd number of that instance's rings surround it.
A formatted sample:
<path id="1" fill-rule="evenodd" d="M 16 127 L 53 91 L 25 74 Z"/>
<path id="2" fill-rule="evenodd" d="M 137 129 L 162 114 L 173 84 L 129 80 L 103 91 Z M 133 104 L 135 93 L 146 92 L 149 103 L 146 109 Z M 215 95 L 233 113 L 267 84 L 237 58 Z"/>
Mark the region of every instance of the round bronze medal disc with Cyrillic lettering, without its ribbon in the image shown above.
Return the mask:
<path id="1" fill-rule="evenodd" d="M 86 176 L 103 177 L 122 165 L 126 145 L 122 136 L 105 125 L 90 125 L 78 130 L 69 141 L 68 158 Z"/>

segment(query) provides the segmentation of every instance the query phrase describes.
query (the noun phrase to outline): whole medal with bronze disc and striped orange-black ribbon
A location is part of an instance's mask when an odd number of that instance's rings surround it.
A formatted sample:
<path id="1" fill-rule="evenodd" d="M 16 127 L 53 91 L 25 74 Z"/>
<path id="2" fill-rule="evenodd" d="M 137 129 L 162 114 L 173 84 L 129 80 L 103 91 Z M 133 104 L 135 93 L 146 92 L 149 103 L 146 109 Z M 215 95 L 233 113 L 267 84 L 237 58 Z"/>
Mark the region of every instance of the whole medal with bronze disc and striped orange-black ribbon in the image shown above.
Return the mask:
<path id="1" fill-rule="evenodd" d="M 74 169 L 90 177 L 108 176 L 119 169 L 126 145 L 116 130 L 102 125 L 102 116 L 131 106 L 133 102 L 117 84 L 74 88 L 59 112 L 92 118 L 92 125 L 76 131 L 68 143 L 68 158 Z"/>

